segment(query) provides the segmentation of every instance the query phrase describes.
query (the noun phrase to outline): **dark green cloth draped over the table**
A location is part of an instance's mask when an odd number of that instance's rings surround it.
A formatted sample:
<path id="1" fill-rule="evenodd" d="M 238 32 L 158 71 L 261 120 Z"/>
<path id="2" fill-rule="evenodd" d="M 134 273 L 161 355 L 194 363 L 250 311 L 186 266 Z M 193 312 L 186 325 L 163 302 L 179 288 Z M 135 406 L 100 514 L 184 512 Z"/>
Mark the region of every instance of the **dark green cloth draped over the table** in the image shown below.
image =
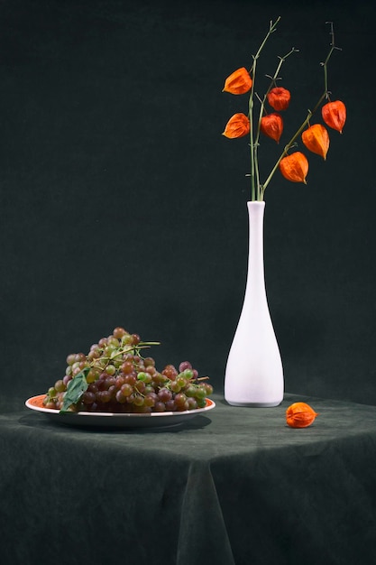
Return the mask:
<path id="1" fill-rule="evenodd" d="M 0 414 L 3 565 L 376 562 L 376 407 L 286 394 L 179 428 Z M 290 403 L 320 415 L 286 425 Z"/>

